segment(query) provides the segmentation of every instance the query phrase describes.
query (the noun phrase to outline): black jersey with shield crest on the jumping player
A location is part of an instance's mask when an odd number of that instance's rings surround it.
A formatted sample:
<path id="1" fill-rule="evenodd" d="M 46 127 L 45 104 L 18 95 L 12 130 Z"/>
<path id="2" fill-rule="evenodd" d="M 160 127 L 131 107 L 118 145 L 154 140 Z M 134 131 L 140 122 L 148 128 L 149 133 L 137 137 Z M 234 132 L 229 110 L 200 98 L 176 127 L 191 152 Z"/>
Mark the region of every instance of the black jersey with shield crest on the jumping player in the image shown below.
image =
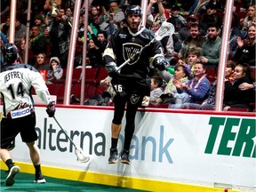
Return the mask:
<path id="1" fill-rule="evenodd" d="M 136 60 L 130 61 L 120 70 L 120 76 L 113 77 L 112 84 L 122 84 L 125 92 L 145 92 L 149 64 L 157 56 L 164 56 L 162 44 L 154 41 L 149 46 L 149 42 L 154 38 L 154 33 L 148 28 L 141 28 L 136 34 L 129 28 L 120 28 L 111 36 L 107 48 L 103 54 L 106 64 L 110 61 L 116 62 L 117 67 L 125 60 L 132 58 L 136 52 L 140 56 Z"/>

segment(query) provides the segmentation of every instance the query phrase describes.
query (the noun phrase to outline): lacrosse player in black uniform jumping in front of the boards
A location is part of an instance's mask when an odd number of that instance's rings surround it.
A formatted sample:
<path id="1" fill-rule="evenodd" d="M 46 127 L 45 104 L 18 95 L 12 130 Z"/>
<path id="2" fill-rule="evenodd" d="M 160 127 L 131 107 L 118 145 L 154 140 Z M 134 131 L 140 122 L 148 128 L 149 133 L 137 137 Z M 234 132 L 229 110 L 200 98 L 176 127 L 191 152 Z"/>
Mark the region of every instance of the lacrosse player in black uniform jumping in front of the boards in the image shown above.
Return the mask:
<path id="1" fill-rule="evenodd" d="M 124 149 L 121 153 L 120 161 L 123 164 L 130 164 L 129 149 L 135 129 L 136 111 L 140 107 L 143 97 L 149 95 L 150 92 L 146 81 L 148 67 L 153 66 L 164 70 L 168 64 L 164 60 L 163 48 L 160 42 L 153 41 L 152 44 L 148 45 L 154 39 L 154 33 L 145 27 L 140 27 L 142 17 L 140 6 L 128 6 L 125 14 L 128 27 L 116 30 L 103 53 L 108 76 L 112 77 L 111 83 L 116 91 L 116 96 L 114 97 L 115 112 L 111 124 L 112 136 L 110 157 L 108 158 L 109 164 L 116 164 L 118 159 L 117 141 L 121 131 L 125 106 L 127 108 Z M 124 68 L 120 71 L 116 70 L 125 60 L 131 58 L 132 60 Z"/>

